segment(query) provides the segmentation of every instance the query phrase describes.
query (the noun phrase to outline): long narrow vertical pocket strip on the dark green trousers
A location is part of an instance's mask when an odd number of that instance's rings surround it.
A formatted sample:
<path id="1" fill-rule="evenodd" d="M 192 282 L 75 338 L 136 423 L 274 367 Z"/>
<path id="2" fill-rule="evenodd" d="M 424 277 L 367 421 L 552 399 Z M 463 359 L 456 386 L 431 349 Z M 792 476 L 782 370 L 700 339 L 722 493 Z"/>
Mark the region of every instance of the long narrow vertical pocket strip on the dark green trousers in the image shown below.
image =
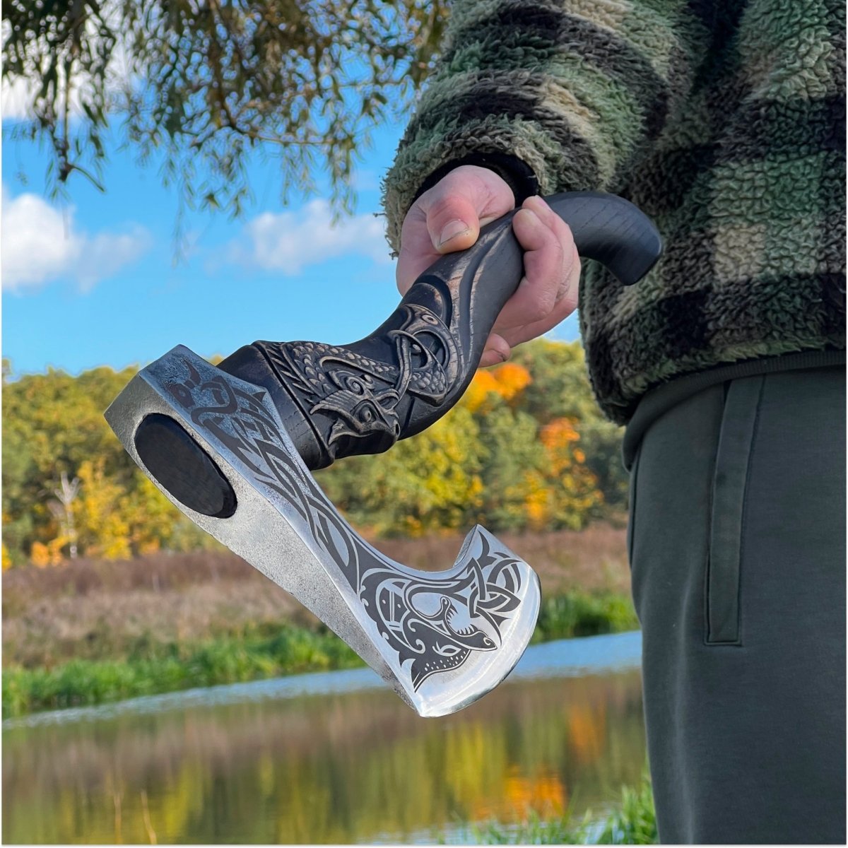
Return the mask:
<path id="1" fill-rule="evenodd" d="M 710 645 L 741 645 L 740 583 L 745 493 L 764 376 L 729 383 L 712 481 L 706 566 L 706 634 Z"/>

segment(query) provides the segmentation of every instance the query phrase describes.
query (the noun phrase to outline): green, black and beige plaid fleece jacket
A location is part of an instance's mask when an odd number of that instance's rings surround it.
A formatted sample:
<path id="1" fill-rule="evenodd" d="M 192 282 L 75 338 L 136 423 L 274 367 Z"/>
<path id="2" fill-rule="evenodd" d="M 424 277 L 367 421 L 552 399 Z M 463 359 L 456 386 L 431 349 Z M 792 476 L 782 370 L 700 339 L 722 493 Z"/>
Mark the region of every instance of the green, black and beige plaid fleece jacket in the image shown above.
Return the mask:
<path id="1" fill-rule="evenodd" d="M 661 382 L 845 349 L 842 0 L 461 0 L 384 183 L 388 239 L 461 163 L 530 193 L 616 192 L 665 254 L 624 288 L 584 264 L 607 416 Z"/>

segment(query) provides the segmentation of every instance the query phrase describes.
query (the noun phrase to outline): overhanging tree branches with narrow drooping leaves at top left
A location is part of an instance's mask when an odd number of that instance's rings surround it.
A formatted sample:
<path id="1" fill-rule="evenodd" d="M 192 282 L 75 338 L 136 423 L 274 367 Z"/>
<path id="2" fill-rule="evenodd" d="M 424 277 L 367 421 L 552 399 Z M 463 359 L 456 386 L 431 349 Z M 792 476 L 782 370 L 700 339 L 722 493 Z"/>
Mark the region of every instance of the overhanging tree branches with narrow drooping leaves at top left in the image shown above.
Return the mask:
<path id="1" fill-rule="evenodd" d="M 321 158 L 348 208 L 354 154 L 432 68 L 446 0 L 10 0 L 3 79 L 25 81 L 53 148 L 51 180 L 102 188 L 109 120 L 190 206 L 238 214 L 250 153 L 273 153 L 282 193 L 314 189 Z M 72 120 L 72 118 L 74 120 Z"/>

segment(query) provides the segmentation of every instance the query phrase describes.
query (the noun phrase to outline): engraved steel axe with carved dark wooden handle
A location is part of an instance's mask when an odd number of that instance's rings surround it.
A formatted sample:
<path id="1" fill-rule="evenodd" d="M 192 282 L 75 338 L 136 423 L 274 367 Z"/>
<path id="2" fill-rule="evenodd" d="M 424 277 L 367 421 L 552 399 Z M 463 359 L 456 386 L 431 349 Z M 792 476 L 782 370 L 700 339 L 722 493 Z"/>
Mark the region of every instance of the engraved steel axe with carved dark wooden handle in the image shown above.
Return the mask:
<path id="1" fill-rule="evenodd" d="M 622 284 L 661 253 L 650 220 L 623 198 L 547 200 L 578 252 Z M 217 366 L 180 345 L 106 410 L 165 497 L 293 594 L 421 716 L 459 710 L 506 677 L 533 635 L 538 577 L 479 525 L 447 571 L 394 562 L 360 538 L 310 471 L 387 450 L 460 399 L 522 277 L 514 214 L 438 259 L 358 342 L 254 342 Z"/>

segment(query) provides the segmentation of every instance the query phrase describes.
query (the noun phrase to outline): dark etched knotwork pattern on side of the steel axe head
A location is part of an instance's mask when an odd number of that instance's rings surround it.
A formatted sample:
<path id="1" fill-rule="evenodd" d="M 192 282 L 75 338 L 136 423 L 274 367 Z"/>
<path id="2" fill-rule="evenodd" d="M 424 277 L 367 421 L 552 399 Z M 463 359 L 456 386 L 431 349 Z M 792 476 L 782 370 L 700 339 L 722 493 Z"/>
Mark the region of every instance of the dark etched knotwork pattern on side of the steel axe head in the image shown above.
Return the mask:
<path id="1" fill-rule="evenodd" d="M 354 533 L 310 473 L 287 449 L 266 393 L 244 391 L 211 365 L 201 375 L 183 359 L 187 377 L 170 394 L 212 444 L 226 446 L 257 483 L 287 500 L 315 546 L 332 558 L 382 639 L 409 662 L 414 689 L 428 677 L 460 667 L 473 651 L 496 650 L 501 627 L 517 609 L 518 561 L 489 549 L 452 577 L 410 576 Z M 267 404 L 267 405 L 266 405 Z"/>

